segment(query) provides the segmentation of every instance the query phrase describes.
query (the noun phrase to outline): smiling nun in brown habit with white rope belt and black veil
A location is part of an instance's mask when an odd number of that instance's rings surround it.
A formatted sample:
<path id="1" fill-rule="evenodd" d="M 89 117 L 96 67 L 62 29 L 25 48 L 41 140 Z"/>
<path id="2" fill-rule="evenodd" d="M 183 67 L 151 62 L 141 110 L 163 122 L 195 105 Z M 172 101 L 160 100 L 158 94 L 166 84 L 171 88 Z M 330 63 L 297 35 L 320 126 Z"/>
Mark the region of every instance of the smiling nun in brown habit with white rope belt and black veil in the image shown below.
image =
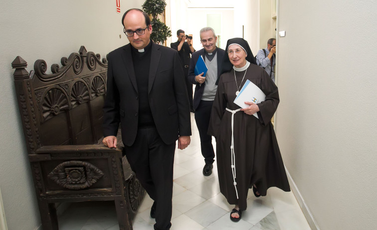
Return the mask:
<path id="1" fill-rule="evenodd" d="M 286 192 L 290 188 L 271 124 L 279 104 L 277 87 L 256 65 L 246 40 L 229 39 L 226 51 L 208 134 L 216 137 L 220 191 L 229 204 L 235 205 L 231 220 L 237 222 L 247 208 L 249 188 L 253 188 L 256 197 L 265 196 L 269 187 Z M 246 80 L 258 86 L 266 98 L 258 104 L 250 99 L 245 102 L 250 106 L 241 109 L 233 101 Z"/>

